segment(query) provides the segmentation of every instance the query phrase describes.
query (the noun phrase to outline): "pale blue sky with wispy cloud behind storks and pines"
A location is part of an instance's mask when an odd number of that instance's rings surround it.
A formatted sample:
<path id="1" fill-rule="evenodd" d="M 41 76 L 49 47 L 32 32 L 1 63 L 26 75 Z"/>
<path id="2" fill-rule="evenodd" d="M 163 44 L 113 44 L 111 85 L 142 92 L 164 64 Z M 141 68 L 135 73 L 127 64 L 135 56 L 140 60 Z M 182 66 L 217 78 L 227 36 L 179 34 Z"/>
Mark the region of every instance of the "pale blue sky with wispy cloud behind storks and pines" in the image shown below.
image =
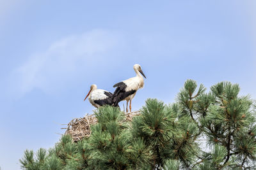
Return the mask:
<path id="1" fill-rule="evenodd" d="M 132 100 L 172 103 L 187 79 L 239 83 L 256 99 L 255 1 L 0 0 L 0 167 L 49 148 L 92 113 L 90 85 L 147 76 Z M 120 104 L 122 106 L 122 104 Z M 60 133 L 60 134 L 58 134 Z"/>

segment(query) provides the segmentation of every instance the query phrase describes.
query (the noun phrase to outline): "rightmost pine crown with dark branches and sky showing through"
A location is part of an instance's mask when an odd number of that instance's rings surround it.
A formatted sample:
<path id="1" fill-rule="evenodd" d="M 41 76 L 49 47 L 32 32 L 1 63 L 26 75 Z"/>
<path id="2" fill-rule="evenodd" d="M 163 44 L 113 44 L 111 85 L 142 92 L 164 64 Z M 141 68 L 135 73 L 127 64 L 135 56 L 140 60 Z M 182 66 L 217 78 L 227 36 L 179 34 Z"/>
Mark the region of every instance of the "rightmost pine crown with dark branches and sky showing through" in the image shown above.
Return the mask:
<path id="1" fill-rule="evenodd" d="M 255 167 L 255 109 L 249 96 L 239 97 L 239 86 L 230 82 L 213 85 L 209 93 L 193 80 L 178 95 L 182 115 L 190 115 L 212 152 L 202 150 L 200 169 Z M 218 161 L 217 161 L 218 160 Z M 197 163 L 196 163 L 197 164 Z"/>

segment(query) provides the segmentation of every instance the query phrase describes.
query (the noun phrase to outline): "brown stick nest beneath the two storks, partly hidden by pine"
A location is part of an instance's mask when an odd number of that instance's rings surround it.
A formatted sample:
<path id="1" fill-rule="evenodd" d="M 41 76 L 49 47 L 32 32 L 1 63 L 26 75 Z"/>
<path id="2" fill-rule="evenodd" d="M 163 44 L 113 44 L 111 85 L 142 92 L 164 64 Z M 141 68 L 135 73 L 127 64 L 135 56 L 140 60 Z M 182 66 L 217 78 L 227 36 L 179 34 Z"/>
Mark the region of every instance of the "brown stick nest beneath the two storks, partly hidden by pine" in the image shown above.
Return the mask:
<path id="1" fill-rule="evenodd" d="M 132 117 L 140 115 L 140 111 L 132 111 L 125 113 L 126 122 L 131 122 Z M 86 114 L 83 118 L 74 118 L 67 124 L 65 134 L 72 137 L 74 142 L 81 141 L 83 138 L 88 138 L 91 135 L 91 126 L 97 124 L 98 120 L 94 114 Z"/>

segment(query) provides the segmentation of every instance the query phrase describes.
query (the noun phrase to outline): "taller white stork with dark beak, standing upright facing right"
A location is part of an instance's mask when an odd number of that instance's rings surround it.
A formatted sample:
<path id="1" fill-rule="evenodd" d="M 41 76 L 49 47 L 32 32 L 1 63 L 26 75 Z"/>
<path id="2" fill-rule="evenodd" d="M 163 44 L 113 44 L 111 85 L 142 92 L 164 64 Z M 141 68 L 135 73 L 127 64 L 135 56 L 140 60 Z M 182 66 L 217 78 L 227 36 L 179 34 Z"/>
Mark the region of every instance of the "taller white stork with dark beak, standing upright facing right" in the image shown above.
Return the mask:
<path id="1" fill-rule="evenodd" d="M 144 79 L 141 74 L 146 78 L 143 73 L 141 66 L 135 64 L 133 69 L 136 73 L 135 77 L 129 78 L 127 80 L 116 83 L 113 87 L 116 87 L 116 90 L 112 96 L 113 106 L 117 106 L 120 101 L 126 101 L 126 112 L 128 112 L 128 103 L 130 101 L 130 112 L 132 110 L 132 98 L 135 96 L 138 89 L 143 88 Z M 141 74 L 140 74 L 141 73 Z"/>

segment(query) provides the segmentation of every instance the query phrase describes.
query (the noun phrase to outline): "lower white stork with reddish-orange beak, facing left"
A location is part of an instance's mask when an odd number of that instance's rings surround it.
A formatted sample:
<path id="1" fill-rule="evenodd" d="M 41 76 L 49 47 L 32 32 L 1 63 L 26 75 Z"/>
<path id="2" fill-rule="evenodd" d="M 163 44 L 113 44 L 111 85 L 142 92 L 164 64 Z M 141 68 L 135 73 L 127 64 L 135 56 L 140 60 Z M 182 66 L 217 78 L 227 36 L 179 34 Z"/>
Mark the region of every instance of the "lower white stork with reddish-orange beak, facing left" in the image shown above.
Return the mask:
<path id="1" fill-rule="evenodd" d="M 90 91 L 88 92 L 85 99 L 89 96 L 90 103 L 95 107 L 99 108 L 103 105 L 113 105 L 113 101 L 111 99 L 112 94 L 106 90 L 97 89 L 97 85 L 91 85 Z M 85 101 L 84 99 L 84 101 Z M 118 105 L 116 105 L 118 106 Z M 119 106 L 118 106 L 119 107 Z"/>

